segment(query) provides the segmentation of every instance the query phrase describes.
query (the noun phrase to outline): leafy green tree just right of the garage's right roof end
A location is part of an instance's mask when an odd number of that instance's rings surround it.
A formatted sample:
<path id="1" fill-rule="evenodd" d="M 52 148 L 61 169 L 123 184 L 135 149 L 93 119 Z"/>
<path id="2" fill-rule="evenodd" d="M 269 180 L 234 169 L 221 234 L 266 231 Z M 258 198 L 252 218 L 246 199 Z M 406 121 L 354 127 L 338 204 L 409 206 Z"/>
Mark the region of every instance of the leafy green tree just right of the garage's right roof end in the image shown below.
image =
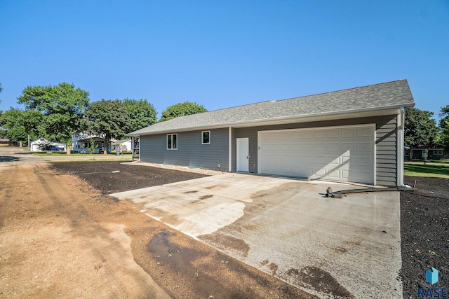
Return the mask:
<path id="1" fill-rule="evenodd" d="M 404 144 L 410 147 L 435 146 L 438 137 L 434 113 L 417 108 L 406 108 Z"/>

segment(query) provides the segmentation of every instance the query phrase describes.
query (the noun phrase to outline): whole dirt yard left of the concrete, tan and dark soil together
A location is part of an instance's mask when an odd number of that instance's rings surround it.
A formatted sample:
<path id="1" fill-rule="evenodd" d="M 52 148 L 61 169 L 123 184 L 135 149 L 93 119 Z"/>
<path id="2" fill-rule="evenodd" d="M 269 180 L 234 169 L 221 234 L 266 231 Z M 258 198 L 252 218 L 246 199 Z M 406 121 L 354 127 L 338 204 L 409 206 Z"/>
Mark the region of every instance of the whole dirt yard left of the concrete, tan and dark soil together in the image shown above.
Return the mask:
<path id="1" fill-rule="evenodd" d="M 0 164 L 0 298 L 314 298 L 107 196 L 200 176 Z"/>

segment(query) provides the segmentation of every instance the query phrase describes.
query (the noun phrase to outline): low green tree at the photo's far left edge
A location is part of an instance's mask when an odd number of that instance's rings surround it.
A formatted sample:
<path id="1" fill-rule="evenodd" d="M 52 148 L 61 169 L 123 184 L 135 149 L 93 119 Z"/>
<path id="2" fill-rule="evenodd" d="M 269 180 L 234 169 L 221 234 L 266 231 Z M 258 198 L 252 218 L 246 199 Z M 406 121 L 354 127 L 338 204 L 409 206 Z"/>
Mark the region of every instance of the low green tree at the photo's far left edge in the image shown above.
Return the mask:
<path id="1" fill-rule="evenodd" d="M 46 137 L 44 115 L 40 111 L 11 108 L 1 115 L 6 136 L 14 141 Z"/>

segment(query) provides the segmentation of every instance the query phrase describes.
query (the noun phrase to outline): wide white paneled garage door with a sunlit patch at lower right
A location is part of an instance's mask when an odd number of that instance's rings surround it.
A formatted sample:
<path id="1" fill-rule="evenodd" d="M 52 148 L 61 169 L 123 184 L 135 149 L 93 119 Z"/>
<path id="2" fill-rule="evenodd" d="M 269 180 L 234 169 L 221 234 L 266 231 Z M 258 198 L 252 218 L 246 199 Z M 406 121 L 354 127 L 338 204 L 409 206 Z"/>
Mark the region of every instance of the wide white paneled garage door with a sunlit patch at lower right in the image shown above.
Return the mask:
<path id="1" fill-rule="evenodd" d="M 374 182 L 374 125 L 260 131 L 259 173 Z"/>

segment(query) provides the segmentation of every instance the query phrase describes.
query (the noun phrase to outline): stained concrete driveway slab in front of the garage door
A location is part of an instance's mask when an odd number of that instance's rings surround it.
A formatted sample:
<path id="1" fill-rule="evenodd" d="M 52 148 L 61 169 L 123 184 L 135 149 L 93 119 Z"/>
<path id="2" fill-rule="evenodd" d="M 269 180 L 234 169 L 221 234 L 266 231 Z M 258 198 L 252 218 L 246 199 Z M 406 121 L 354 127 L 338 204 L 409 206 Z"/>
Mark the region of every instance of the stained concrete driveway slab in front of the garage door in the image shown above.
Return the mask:
<path id="1" fill-rule="evenodd" d="M 398 192 L 226 173 L 115 193 L 229 256 L 322 298 L 402 298 Z"/>

